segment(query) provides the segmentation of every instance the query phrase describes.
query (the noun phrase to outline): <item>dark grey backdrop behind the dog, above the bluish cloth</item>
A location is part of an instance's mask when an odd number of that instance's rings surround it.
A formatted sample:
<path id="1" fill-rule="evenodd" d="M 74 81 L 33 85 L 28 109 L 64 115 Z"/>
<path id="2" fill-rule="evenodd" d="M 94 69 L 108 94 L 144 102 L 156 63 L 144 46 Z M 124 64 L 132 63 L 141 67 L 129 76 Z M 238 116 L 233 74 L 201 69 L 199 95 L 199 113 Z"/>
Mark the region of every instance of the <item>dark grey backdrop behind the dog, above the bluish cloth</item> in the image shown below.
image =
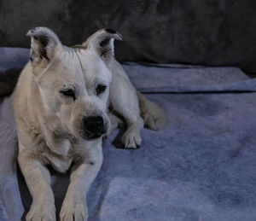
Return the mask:
<path id="1" fill-rule="evenodd" d="M 0 0 L 0 46 L 29 47 L 26 32 L 35 26 L 48 26 L 67 45 L 113 28 L 124 39 L 116 47 L 119 61 L 237 66 L 256 73 L 255 0 Z"/>

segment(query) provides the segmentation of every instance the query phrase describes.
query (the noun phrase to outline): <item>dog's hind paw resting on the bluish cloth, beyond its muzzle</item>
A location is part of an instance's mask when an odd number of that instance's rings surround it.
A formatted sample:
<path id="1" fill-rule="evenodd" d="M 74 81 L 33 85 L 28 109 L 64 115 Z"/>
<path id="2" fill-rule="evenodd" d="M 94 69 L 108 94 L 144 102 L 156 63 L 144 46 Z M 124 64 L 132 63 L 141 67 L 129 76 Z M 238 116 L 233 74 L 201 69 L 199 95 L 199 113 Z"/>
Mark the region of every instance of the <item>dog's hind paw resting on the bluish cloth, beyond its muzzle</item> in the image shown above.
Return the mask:
<path id="1" fill-rule="evenodd" d="M 139 131 L 130 128 L 125 131 L 125 134 L 122 137 L 122 142 L 124 143 L 125 148 L 139 148 L 142 142 L 142 137 Z"/>

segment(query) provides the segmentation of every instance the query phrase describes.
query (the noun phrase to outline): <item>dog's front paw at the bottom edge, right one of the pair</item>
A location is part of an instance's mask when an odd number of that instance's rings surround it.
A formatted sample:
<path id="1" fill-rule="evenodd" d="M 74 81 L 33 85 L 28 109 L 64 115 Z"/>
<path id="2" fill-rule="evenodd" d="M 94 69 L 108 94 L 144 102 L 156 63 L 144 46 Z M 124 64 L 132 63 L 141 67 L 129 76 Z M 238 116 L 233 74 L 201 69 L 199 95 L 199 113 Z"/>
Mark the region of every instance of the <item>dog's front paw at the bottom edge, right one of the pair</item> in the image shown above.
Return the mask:
<path id="1" fill-rule="evenodd" d="M 87 206 L 84 202 L 64 200 L 61 206 L 60 220 L 61 221 L 86 221 L 88 218 Z"/>

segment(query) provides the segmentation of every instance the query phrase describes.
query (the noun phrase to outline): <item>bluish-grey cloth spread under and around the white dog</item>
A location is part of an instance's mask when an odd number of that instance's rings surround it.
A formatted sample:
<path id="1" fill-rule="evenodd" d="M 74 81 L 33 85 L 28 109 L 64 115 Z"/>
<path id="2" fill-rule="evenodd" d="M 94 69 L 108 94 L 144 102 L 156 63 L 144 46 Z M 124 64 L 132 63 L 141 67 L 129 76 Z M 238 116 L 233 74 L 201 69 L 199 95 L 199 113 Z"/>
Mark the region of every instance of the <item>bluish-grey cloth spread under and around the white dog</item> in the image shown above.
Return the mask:
<path id="1" fill-rule="evenodd" d="M 90 220 L 254 221 L 256 94 L 246 92 L 246 86 L 255 81 L 236 67 L 130 64 L 125 69 L 137 88 L 166 109 L 170 123 L 164 131 L 143 130 L 137 150 L 114 148 L 119 147 L 119 131 L 113 131 L 88 195 Z M 230 84 L 244 91 L 224 92 Z M 150 85 L 153 90 L 157 86 L 153 93 Z M 19 220 L 31 197 L 16 171 L 9 97 L 0 103 L 0 149 L 0 220 Z M 52 174 L 59 212 L 68 174 Z"/>

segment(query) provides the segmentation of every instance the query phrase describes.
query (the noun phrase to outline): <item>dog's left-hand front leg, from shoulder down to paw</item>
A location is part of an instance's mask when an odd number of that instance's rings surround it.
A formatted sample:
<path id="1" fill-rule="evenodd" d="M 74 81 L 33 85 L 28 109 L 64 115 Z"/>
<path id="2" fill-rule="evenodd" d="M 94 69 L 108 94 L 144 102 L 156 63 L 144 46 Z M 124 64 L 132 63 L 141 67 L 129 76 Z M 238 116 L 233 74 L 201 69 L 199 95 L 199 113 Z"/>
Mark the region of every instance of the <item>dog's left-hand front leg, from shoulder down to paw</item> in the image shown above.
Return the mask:
<path id="1" fill-rule="evenodd" d="M 20 170 L 26 179 L 26 185 L 32 195 L 32 206 L 26 214 L 26 220 L 55 221 L 55 200 L 49 186 L 48 169 L 26 150 L 20 151 L 18 161 Z"/>

